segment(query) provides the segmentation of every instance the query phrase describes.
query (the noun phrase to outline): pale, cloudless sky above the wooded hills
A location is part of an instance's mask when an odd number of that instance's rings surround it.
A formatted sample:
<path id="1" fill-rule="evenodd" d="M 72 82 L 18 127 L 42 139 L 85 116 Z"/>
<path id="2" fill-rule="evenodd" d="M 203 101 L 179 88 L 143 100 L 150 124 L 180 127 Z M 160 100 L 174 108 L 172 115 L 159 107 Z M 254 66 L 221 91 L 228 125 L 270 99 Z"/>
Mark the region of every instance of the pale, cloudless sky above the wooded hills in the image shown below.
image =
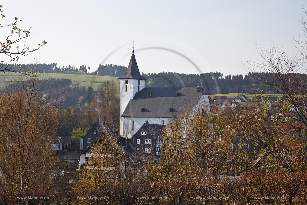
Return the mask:
<path id="1" fill-rule="evenodd" d="M 245 75 L 243 64 L 249 58 L 261 62 L 255 44 L 270 48 L 274 43 L 288 54 L 296 52 L 303 3 L 0 0 L 6 16 L 2 24 L 18 17 L 22 29 L 32 26 L 30 48 L 49 41 L 19 63 L 38 57 L 41 63 L 57 62 L 60 67 L 85 64 L 91 71 L 101 63 L 128 66 L 134 41 L 141 72 L 218 71 L 224 76 Z M 2 30 L 1 40 L 4 34 Z"/>

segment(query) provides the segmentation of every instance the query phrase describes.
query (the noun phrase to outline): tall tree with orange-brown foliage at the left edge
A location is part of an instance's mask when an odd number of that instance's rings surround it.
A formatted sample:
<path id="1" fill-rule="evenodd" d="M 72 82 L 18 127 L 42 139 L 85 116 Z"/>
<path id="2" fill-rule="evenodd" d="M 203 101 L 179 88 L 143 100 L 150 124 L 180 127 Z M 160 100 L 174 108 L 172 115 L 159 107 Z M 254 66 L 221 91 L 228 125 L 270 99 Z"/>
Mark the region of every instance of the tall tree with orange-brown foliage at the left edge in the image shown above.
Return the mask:
<path id="1" fill-rule="evenodd" d="M 43 103 L 46 95 L 39 89 L 36 75 L 22 78 L 18 86 L 4 90 L 0 97 L 0 203 L 62 200 L 68 186 L 48 140 L 55 138 L 56 107 Z"/>

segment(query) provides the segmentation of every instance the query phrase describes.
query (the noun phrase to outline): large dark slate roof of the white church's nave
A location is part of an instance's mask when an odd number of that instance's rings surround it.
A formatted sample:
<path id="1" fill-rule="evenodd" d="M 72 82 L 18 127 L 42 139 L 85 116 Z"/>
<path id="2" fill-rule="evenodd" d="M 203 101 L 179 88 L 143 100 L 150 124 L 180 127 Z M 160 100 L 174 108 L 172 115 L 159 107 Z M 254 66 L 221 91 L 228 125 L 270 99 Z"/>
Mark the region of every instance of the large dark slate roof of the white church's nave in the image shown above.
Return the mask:
<path id="1" fill-rule="evenodd" d="M 152 93 L 149 96 L 149 93 Z M 177 93 L 180 93 L 177 96 Z M 199 87 L 144 88 L 126 106 L 122 117 L 173 117 L 199 102 Z M 142 112 L 142 108 L 144 112 Z M 172 109 L 173 112 L 169 112 Z"/>

